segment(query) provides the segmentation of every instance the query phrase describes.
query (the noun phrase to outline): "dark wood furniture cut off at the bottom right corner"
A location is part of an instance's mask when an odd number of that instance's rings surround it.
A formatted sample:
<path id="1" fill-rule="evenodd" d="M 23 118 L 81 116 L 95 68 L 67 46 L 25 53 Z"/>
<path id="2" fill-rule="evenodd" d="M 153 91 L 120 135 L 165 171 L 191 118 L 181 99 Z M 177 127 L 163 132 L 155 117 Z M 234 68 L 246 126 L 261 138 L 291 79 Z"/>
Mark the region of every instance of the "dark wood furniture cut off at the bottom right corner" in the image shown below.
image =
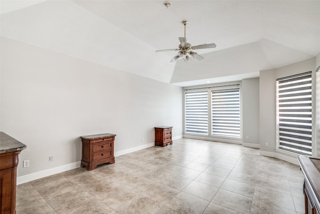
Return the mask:
<path id="1" fill-rule="evenodd" d="M 320 214 L 320 157 L 298 156 L 303 172 L 305 214 Z"/>

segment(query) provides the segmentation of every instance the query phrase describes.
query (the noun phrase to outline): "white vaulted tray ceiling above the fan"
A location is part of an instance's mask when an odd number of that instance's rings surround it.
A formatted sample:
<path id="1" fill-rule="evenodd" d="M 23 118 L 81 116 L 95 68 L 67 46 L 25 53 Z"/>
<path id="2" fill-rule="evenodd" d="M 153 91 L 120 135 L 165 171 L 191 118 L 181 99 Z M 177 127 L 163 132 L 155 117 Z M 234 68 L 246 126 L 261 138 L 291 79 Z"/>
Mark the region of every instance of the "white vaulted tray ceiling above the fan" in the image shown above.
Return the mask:
<path id="1" fill-rule="evenodd" d="M 320 52 L 320 1 L 0 1 L 1 36 L 179 86 L 257 77 Z M 183 37 L 202 61 L 169 61 Z"/>

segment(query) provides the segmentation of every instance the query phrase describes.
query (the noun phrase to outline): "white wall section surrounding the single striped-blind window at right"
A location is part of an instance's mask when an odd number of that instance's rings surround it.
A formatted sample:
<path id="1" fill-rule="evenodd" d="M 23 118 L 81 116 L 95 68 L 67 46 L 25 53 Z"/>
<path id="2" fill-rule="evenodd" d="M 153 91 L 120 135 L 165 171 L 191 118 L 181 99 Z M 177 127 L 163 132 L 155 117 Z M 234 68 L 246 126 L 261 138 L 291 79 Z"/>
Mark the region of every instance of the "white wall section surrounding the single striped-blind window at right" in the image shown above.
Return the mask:
<path id="1" fill-rule="evenodd" d="M 276 79 L 295 75 L 307 71 L 312 71 L 312 99 L 316 100 L 315 93 L 315 58 L 304 60 L 298 63 L 287 65 L 277 69 L 260 71 L 259 77 L 259 109 L 260 109 L 260 128 L 259 128 L 259 141 L 260 141 L 260 154 L 273 156 L 286 161 L 296 163 L 296 155 L 291 155 L 288 152 L 276 151 Z M 313 105 L 314 107 L 315 105 Z M 312 108 L 314 112 L 315 108 Z M 315 114 L 312 118 L 315 121 Z M 315 122 L 312 124 L 312 132 L 315 133 Z M 268 146 L 264 145 L 268 142 Z M 312 135 L 312 144 L 315 145 L 315 135 Z M 313 149 L 313 147 L 312 147 Z"/>

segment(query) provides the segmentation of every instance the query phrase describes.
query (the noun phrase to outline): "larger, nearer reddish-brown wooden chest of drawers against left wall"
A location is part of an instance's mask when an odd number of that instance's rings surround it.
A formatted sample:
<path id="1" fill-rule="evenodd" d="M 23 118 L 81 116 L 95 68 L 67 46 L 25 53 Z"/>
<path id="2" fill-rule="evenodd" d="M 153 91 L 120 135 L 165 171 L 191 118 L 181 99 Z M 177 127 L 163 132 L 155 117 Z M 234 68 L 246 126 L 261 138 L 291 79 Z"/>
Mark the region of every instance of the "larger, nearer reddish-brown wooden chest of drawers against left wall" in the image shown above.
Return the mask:
<path id="1" fill-rule="evenodd" d="M 92 170 L 102 163 L 114 163 L 114 137 L 109 133 L 81 136 L 81 167 Z"/>

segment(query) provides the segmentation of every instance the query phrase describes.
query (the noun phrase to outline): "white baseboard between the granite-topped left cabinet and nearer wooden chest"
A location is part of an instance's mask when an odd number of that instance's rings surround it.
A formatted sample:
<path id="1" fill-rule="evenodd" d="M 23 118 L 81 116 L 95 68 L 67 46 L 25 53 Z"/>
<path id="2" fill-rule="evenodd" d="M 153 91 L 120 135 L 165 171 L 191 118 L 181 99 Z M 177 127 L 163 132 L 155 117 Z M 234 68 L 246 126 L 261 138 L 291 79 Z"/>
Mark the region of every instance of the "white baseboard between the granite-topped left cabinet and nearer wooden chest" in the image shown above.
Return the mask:
<path id="1" fill-rule="evenodd" d="M 26 175 L 22 175 L 16 178 L 16 184 L 22 184 L 22 183 L 26 183 L 32 180 L 36 180 L 42 177 L 46 177 L 52 174 L 57 174 L 60 172 L 64 172 L 64 171 L 68 171 L 71 169 L 75 169 L 80 167 L 80 161 L 74 162 L 74 163 L 69 163 L 66 165 L 62 165 L 62 166 L 57 166 L 54 168 L 50 168 L 50 169 L 45 169 L 42 171 L 38 171 L 38 172 L 34 172 L 31 174 L 26 174 Z"/>

